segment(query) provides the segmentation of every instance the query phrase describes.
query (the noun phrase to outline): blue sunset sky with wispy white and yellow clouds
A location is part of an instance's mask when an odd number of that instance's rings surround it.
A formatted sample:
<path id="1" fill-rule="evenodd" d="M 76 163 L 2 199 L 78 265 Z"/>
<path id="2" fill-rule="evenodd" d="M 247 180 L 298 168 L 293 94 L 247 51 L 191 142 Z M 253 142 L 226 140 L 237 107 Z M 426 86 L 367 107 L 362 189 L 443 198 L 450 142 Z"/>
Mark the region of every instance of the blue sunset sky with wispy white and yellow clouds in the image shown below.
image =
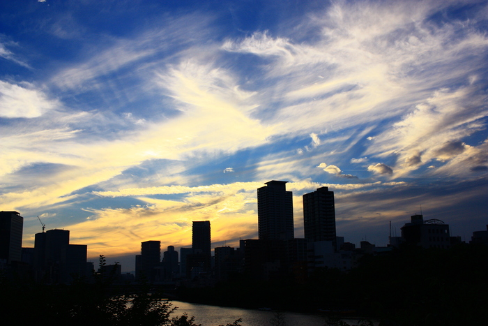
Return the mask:
<path id="1" fill-rule="evenodd" d="M 335 193 L 337 235 L 488 224 L 487 1 L 0 2 L 0 210 L 132 269 L 257 239 L 257 188 Z"/>

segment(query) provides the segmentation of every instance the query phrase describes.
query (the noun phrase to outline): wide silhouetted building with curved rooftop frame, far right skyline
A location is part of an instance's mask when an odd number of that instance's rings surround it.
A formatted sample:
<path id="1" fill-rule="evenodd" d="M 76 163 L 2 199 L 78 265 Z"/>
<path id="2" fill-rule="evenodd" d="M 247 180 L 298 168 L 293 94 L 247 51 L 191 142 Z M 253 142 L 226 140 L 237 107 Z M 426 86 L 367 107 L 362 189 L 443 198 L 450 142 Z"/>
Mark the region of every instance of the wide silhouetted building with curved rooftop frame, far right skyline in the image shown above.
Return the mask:
<path id="1" fill-rule="evenodd" d="M 420 214 L 411 216 L 411 223 L 402 227 L 402 238 L 406 244 L 424 248 L 450 247 L 449 225 L 438 219 L 424 221 Z"/>

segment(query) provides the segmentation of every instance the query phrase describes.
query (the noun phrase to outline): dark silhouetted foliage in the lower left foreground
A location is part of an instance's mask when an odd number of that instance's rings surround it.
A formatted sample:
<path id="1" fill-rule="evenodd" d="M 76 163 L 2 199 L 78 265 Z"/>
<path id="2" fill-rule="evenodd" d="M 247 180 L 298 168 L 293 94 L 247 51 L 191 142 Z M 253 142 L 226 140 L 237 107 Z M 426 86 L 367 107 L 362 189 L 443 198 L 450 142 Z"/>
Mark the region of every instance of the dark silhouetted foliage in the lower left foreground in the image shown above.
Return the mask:
<path id="1" fill-rule="evenodd" d="M 113 276 L 95 274 L 93 283 L 77 280 L 70 286 L 0 278 L 3 325 L 201 326 L 186 313 L 174 316 L 176 307 L 151 294 L 148 284 L 137 291 L 118 288 Z"/>

